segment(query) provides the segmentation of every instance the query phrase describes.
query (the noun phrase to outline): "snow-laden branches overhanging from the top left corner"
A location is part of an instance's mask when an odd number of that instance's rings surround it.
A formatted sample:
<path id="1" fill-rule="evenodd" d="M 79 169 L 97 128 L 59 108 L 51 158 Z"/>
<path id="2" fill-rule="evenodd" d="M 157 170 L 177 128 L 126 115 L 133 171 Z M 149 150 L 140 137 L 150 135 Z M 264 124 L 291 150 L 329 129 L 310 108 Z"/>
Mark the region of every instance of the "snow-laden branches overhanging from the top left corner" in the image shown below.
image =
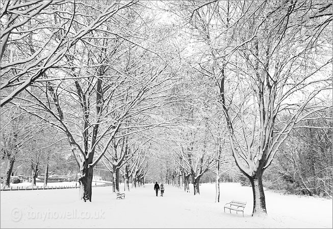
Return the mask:
<path id="1" fill-rule="evenodd" d="M 118 11 L 135 4 L 131 1 L 114 2 L 100 11 L 95 2 L 1 3 L 1 107 L 47 74 L 48 70 L 57 68 L 57 63 L 68 50 L 86 35 Z M 81 13 L 84 8 L 88 14 Z M 90 23 L 82 26 L 83 20 Z M 80 30 L 72 30 L 77 25 Z M 16 48 L 18 53 L 14 51 Z"/>

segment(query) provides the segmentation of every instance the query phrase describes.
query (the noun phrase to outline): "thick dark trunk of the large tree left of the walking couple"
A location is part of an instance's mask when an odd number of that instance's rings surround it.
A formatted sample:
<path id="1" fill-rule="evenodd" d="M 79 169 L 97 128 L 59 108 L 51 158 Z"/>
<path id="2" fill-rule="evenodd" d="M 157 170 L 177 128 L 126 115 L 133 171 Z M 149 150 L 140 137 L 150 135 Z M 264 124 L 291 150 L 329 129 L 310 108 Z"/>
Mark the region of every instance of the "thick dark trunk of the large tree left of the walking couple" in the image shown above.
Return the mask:
<path id="1" fill-rule="evenodd" d="M 93 174 L 93 167 L 85 167 L 80 168 L 80 200 L 83 199 L 84 202 L 87 200 L 91 202 L 91 184 L 92 184 L 92 174 Z"/>

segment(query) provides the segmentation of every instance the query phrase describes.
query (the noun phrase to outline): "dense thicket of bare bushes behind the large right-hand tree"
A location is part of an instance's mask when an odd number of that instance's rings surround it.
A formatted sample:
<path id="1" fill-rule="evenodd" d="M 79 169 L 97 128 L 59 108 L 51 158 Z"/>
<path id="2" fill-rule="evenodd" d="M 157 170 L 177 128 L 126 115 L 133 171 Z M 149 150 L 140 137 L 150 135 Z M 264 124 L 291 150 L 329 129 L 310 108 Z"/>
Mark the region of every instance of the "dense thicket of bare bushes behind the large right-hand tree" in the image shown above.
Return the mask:
<path id="1" fill-rule="evenodd" d="M 328 112 L 301 122 L 281 145 L 266 175 L 273 188 L 288 193 L 332 196 L 331 118 Z M 325 117 L 323 119 L 322 117 Z"/>

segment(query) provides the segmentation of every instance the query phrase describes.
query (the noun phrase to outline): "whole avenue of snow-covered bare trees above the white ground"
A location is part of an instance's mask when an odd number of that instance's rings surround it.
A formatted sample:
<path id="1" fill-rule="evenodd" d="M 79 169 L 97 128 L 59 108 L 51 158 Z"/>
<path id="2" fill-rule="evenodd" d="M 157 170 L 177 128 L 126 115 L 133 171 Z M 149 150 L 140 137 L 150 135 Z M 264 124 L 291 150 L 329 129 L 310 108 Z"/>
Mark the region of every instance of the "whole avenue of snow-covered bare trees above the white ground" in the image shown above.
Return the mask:
<path id="1" fill-rule="evenodd" d="M 330 1 L 1 1 L 1 170 L 332 197 Z M 15 172 L 15 173 L 14 173 Z M 124 187 L 120 187 L 120 183 Z M 213 198 L 213 197 L 212 197 Z"/>

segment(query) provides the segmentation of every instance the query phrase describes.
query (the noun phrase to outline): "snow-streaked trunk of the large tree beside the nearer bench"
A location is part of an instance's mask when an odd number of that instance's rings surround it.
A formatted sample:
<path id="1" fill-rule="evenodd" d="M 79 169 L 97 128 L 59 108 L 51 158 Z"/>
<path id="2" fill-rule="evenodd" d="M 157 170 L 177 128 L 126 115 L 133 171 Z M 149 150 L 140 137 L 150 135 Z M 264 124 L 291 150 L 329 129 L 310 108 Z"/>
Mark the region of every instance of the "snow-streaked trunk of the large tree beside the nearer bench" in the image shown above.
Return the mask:
<path id="1" fill-rule="evenodd" d="M 253 192 L 252 216 L 267 214 L 262 174 L 256 173 L 254 176 L 248 178 L 251 182 Z"/>

